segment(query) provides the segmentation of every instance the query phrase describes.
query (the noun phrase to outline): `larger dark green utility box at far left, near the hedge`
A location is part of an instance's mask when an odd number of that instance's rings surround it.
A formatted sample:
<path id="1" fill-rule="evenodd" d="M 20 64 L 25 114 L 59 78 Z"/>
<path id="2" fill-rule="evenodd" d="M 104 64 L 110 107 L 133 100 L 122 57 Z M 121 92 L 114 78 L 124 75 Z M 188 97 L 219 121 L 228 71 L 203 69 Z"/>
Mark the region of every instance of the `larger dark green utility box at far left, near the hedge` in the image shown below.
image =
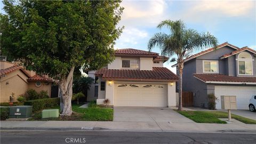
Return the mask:
<path id="1" fill-rule="evenodd" d="M 13 106 L 10 107 L 9 118 L 28 118 L 31 114 L 32 106 Z"/>

